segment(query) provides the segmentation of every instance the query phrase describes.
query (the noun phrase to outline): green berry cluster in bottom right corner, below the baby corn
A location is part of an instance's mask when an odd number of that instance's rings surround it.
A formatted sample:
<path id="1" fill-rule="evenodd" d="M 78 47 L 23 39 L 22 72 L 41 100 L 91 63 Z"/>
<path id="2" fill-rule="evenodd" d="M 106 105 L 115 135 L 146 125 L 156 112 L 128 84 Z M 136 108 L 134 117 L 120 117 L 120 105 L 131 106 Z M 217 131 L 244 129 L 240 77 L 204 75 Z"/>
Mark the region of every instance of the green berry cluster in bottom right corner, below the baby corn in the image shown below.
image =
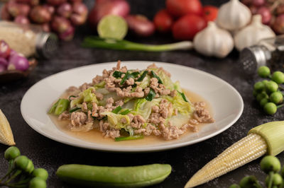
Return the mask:
<path id="1" fill-rule="evenodd" d="M 261 160 L 261 170 L 268 176 L 266 177 L 266 186 L 268 188 L 282 188 L 284 187 L 284 167 L 281 168 L 281 163 L 278 158 L 267 155 Z M 280 172 L 280 174 L 279 174 Z M 231 184 L 229 188 L 262 188 L 255 176 L 246 176 L 239 184 Z"/>

